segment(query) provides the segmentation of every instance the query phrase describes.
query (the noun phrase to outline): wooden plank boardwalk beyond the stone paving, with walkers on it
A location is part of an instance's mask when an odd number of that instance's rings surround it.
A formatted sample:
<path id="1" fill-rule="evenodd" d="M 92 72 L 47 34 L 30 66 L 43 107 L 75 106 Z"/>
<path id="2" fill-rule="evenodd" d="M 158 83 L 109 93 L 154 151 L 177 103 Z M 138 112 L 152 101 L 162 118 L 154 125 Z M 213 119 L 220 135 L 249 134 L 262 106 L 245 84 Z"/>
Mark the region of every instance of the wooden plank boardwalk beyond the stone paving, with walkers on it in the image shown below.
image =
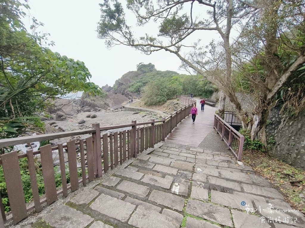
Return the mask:
<path id="1" fill-rule="evenodd" d="M 200 100 L 196 99 L 196 101 L 198 115 L 196 116 L 195 123 L 192 121 L 192 115 L 189 115 L 172 130 L 165 139 L 165 142 L 198 147 L 213 129 L 214 114 L 217 108 L 204 105 L 204 111 L 201 112 Z"/>

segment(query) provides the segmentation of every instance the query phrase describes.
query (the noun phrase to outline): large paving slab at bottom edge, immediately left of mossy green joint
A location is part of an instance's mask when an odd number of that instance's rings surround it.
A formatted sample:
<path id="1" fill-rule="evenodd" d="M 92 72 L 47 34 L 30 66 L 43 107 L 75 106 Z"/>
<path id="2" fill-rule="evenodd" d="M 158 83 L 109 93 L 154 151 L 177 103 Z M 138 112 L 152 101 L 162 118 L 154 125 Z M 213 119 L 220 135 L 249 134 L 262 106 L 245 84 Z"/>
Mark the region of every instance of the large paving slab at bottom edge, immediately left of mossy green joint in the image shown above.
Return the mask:
<path id="1" fill-rule="evenodd" d="M 155 211 L 146 210 L 142 206 L 138 206 L 137 210 L 129 219 L 128 224 L 138 228 L 180 227 L 180 224 L 178 224 L 174 219 Z"/>

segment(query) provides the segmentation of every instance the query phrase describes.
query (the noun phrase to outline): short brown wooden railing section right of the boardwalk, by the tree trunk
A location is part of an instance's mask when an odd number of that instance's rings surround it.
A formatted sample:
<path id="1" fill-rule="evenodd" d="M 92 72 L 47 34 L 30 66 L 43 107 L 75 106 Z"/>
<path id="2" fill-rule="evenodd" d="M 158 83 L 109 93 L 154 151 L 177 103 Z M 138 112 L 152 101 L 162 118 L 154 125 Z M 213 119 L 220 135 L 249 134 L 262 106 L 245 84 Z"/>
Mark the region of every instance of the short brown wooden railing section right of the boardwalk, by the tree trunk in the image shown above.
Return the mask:
<path id="1" fill-rule="evenodd" d="M 237 157 L 237 160 L 241 161 L 245 137 L 216 114 L 214 116 L 214 128 L 220 134 L 221 140 L 224 140 L 228 145 L 228 150 L 231 150 Z"/>

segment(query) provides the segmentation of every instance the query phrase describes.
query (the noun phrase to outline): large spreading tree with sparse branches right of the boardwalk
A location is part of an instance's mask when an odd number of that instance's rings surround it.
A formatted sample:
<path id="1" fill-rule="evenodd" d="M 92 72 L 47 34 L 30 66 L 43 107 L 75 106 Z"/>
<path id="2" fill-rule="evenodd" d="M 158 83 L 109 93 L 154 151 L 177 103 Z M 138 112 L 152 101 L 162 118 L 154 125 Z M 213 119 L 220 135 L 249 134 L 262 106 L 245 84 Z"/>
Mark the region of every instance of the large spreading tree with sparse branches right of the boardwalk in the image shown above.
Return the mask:
<path id="1" fill-rule="evenodd" d="M 100 4 L 102 15 L 98 26 L 99 37 L 106 39 L 108 47 L 123 44 L 145 54 L 159 50 L 175 54 L 184 66 L 207 75 L 209 81 L 222 89 L 242 119 L 243 126 L 252 130 L 252 139 L 258 136 L 263 142 L 266 141 L 264 126 L 268 107 L 278 90 L 289 80 L 292 72 L 305 62 L 302 45 L 289 46 L 297 49 L 297 58 L 293 64 L 286 64 L 281 71 L 277 69 L 278 59 L 274 57 L 277 56 L 278 47 L 283 46 L 278 42 L 280 34 L 284 31 L 291 32 L 293 27 L 303 23 L 303 0 L 219 0 L 214 3 L 202 0 L 130 0 L 127 1 L 127 9 L 135 14 L 138 26 L 145 26 L 151 20 L 159 23 L 158 36 L 146 33 L 138 38 L 135 34 L 139 31 L 135 33 L 135 28 L 127 24 L 121 3 L 117 0 L 111 2 L 113 4 L 105 0 Z M 206 14 L 203 11 L 206 11 Z M 238 34 L 234 45 L 230 44 L 232 28 L 241 31 L 241 37 Z M 221 37 L 220 42 L 211 42 L 208 50 L 205 49 L 204 40 L 196 39 L 197 33 L 198 36 L 205 37 L 202 31 L 207 30 L 216 31 Z M 245 31 L 248 31 L 248 36 L 245 36 Z M 302 34 L 303 31 L 301 30 Z M 251 46 L 251 50 L 255 51 L 242 56 L 237 51 L 236 55 L 233 48 L 236 43 L 244 45 L 239 46 L 239 50 L 250 49 L 247 46 L 249 42 L 245 40 L 253 41 L 255 45 Z M 242 108 L 236 97 L 236 77 L 232 69 L 240 71 L 241 62 L 245 64 L 256 59 L 255 53 L 262 52 L 265 73 L 255 74 L 260 80 L 252 80 L 256 82 L 252 85 L 257 91 L 257 96 L 253 109 L 249 112 Z M 242 61 L 238 61 L 242 58 Z M 208 74 L 206 70 L 209 71 Z M 251 74 L 244 76 L 253 77 Z M 224 99 L 221 99 L 220 103 L 223 102 Z"/>

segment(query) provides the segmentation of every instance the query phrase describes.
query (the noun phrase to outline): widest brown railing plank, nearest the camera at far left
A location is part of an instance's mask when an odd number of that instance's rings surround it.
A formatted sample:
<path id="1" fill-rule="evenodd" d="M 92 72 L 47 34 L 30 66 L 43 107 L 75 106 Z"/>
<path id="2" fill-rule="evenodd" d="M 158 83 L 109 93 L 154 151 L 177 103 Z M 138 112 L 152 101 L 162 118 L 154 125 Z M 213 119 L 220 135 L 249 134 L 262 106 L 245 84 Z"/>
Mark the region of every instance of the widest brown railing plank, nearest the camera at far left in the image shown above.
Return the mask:
<path id="1" fill-rule="evenodd" d="M 7 195 L 9 196 L 9 204 L 11 206 L 14 223 L 16 224 L 27 217 L 27 207 L 23 194 L 17 151 L 2 154 L 1 160 Z"/>

